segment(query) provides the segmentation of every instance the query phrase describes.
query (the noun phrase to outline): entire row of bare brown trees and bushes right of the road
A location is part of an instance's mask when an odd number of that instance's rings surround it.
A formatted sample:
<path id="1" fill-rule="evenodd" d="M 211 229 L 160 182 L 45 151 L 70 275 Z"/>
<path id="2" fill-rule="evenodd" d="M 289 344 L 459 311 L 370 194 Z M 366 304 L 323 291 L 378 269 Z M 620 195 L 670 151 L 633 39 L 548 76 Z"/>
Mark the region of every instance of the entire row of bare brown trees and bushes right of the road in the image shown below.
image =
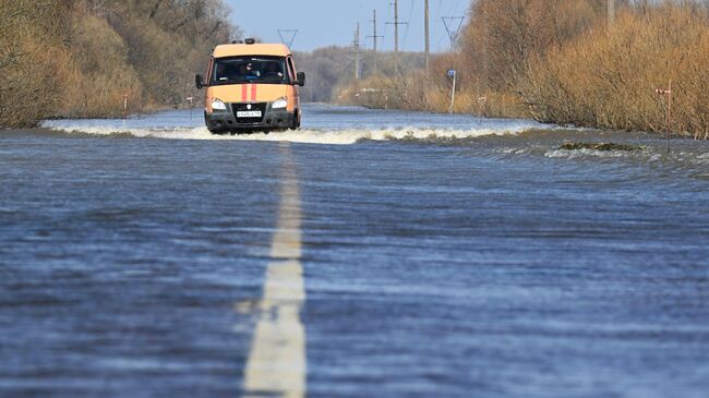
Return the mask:
<path id="1" fill-rule="evenodd" d="M 371 75 L 360 104 L 447 111 L 455 69 L 456 112 L 709 136 L 707 0 L 617 0 L 614 22 L 605 0 L 476 0 L 467 21 L 428 74 Z"/>

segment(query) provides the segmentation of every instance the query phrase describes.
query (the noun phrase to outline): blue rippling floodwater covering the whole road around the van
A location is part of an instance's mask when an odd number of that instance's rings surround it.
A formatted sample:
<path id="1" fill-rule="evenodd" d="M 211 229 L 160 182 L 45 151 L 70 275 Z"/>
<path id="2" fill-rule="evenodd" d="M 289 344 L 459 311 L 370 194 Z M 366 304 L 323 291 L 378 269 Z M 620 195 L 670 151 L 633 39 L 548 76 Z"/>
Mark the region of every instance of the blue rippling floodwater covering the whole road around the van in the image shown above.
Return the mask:
<path id="1" fill-rule="evenodd" d="M 327 106 L 45 126 L 0 131 L 2 397 L 707 396 L 707 143 Z"/>

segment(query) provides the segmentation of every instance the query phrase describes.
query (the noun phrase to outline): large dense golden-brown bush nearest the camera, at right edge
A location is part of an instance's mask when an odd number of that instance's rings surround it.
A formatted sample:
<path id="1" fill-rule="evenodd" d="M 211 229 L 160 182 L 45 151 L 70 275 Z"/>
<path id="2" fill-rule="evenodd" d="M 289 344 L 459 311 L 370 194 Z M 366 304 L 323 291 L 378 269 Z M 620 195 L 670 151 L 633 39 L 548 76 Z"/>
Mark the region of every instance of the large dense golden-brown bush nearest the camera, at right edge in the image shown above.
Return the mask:
<path id="1" fill-rule="evenodd" d="M 665 3 L 642 13 L 624 12 L 612 28 L 537 58 L 522 92 L 539 120 L 618 130 L 672 129 L 705 137 L 708 61 L 706 14 Z M 665 121 L 666 98 L 654 93 L 670 80 L 672 126 Z"/>

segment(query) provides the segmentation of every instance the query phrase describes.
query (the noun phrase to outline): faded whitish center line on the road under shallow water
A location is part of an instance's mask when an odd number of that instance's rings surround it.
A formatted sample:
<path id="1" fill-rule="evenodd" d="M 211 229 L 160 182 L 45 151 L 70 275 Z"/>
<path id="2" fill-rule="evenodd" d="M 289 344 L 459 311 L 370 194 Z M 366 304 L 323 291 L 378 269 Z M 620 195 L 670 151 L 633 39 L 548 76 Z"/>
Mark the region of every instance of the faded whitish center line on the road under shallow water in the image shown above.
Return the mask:
<path id="1" fill-rule="evenodd" d="M 278 225 L 271 245 L 261 315 L 244 372 L 244 398 L 305 396 L 305 301 L 301 257 L 300 189 L 290 144 L 281 143 Z"/>

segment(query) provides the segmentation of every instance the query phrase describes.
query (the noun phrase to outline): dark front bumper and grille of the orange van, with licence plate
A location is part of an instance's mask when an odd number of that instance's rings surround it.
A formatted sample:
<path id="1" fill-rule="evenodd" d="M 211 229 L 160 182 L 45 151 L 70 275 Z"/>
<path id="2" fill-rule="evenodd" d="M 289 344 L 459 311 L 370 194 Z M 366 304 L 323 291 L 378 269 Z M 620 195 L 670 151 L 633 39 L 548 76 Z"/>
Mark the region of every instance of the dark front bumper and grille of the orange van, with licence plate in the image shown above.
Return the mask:
<path id="1" fill-rule="evenodd" d="M 239 118 L 239 111 L 261 111 L 261 117 Z M 273 109 L 272 102 L 231 102 L 226 110 L 204 113 L 204 121 L 213 133 L 287 130 L 293 125 L 296 113 L 285 108 Z"/>

